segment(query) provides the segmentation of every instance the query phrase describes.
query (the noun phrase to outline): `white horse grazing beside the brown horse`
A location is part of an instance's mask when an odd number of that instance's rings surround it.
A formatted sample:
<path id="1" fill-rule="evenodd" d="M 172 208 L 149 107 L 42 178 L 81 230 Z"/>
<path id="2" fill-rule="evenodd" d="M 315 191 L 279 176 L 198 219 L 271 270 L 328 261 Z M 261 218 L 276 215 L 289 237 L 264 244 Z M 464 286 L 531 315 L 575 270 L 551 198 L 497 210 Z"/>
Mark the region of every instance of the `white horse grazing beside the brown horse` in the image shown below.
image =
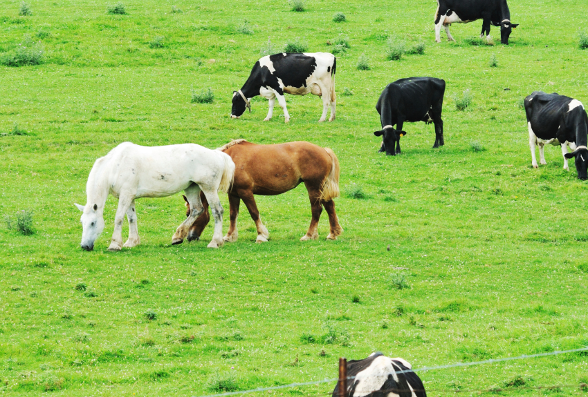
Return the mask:
<path id="1" fill-rule="evenodd" d="M 104 230 L 104 204 L 109 194 L 118 197 L 114 218 L 111 251 L 121 246 L 130 248 L 140 243 L 137 230 L 135 199 L 167 197 L 185 191 L 192 213 L 174 234 L 172 244 L 186 237 L 190 226 L 204 211 L 200 191 L 212 207 L 214 235 L 209 248 L 223 245 L 223 207 L 219 189 L 227 193 L 235 175 L 235 163 L 226 153 L 196 144 L 139 146 L 125 142 L 113 148 L 94 163 L 86 184 L 86 206 L 75 204 L 82 211 L 82 248 L 91 251 Z M 129 240 L 122 245 L 122 221 L 129 220 Z"/>

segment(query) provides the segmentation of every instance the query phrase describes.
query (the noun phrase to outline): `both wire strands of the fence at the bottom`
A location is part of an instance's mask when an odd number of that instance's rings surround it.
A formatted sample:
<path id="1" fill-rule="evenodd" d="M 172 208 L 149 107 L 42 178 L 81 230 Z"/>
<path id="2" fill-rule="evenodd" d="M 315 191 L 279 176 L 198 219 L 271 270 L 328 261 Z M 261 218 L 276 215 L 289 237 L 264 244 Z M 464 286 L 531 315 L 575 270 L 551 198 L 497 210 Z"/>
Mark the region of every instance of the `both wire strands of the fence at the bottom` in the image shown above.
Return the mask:
<path id="1" fill-rule="evenodd" d="M 503 357 L 503 358 L 490 358 L 489 360 L 482 360 L 482 361 L 470 361 L 470 362 L 456 362 L 454 364 L 446 364 L 446 365 L 435 365 L 433 367 L 421 367 L 416 369 L 404 369 L 402 371 L 395 371 L 395 374 L 405 374 L 407 372 L 423 372 L 423 371 L 432 371 L 434 369 L 448 369 L 448 368 L 455 368 L 455 367 L 471 367 L 473 365 L 484 365 L 484 364 L 492 364 L 494 362 L 504 362 L 504 361 L 511 361 L 511 360 L 523 360 L 525 358 L 537 358 L 537 357 L 545 357 L 545 356 L 558 356 L 559 354 L 569 354 L 569 353 L 577 353 L 580 351 L 588 351 L 588 347 L 581 347 L 580 349 L 570 349 L 570 350 L 556 350 L 556 351 L 549 351 L 547 353 L 538 353 L 538 354 L 523 354 L 522 356 L 516 357 Z M 353 380 L 355 376 L 348 376 L 347 380 Z M 280 386 L 270 386 L 270 387 L 258 387 L 257 389 L 249 389 L 249 390 L 241 390 L 241 391 L 226 391 L 225 393 L 219 394 L 208 394 L 204 396 L 194 396 L 194 397 L 223 397 L 223 396 L 235 396 L 237 394 L 247 394 L 247 393 L 257 393 L 260 391 L 268 391 L 268 390 L 279 390 L 279 389 L 290 389 L 292 387 L 299 387 L 299 386 L 310 386 L 310 385 L 320 385 L 321 383 L 332 383 L 337 382 L 339 378 L 333 379 L 323 379 L 323 380 L 314 380 L 311 382 L 302 382 L 302 383 L 290 383 L 289 385 L 280 385 Z M 587 387 L 585 383 L 580 383 L 578 385 L 553 385 L 553 386 L 538 386 L 538 387 L 526 387 L 528 389 L 557 389 L 558 387 Z M 502 388 L 501 391 L 506 390 L 515 390 L 515 389 L 525 389 L 525 387 L 508 387 L 508 389 Z M 484 390 L 463 390 L 463 389 L 439 389 L 437 391 L 448 391 L 448 392 L 467 392 L 467 391 L 496 391 L 497 389 L 484 389 Z M 430 389 L 430 391 L 434 391 Z M 330 393 L 329 393 L 330 394 Z"/>

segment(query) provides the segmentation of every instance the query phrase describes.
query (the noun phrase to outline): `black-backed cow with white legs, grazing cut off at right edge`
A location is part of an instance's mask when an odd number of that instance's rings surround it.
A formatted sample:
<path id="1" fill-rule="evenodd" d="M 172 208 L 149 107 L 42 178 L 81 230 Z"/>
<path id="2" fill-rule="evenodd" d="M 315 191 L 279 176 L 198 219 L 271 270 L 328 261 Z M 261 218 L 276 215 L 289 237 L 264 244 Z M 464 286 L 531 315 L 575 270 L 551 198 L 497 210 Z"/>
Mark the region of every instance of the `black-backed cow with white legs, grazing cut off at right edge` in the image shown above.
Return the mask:
<path id="1" fill-rule="evenodd" d="M 588 116 L 582 102 L 557 93 L 535 91 L 525 98 L 525 113 L 533 167 L 539 168 L 535 158 L 535 145 L 539 146 L 541 164 L 547 164 L 543 154 L 544 145 L 561 145 L 564 169 L 569 171 L 567 159 L 576 157 L 578 178 L 587 180 Z M 568 153 L 568 146 L 572 153 Z"/>

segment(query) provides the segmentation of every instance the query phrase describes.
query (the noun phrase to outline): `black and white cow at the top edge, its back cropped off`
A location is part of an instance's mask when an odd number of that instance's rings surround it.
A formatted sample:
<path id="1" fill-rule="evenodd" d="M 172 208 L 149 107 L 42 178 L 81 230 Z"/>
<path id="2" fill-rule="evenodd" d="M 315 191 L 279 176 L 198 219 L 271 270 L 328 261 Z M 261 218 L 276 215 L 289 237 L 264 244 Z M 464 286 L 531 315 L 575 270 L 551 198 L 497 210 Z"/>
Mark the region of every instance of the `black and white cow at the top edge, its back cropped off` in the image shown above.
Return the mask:
<path id="1" fill-rule="evenodd" d="M 441 26 L 447 39 L 455 41 L 449 32 L 452 23 L 468 23 L 482 19 L 480 37 L 490 40 L 490 23 L 500 26 L 500 42 L 508 44 L 508 37 L 518 23 L 511 23 L 511 11 L 506 0 L 437 0 L 435 12 L 435 41 L 441 43 Z"/>

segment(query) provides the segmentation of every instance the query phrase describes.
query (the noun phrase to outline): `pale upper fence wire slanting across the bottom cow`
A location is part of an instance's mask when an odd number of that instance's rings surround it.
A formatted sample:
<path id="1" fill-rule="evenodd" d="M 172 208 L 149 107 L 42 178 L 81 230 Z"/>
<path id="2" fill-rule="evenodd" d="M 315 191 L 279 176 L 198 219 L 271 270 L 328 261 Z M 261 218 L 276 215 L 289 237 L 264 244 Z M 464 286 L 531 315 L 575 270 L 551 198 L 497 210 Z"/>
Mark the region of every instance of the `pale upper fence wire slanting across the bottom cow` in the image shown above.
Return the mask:
<path id="1" fill-rule="evenodd" d="M 490 364 L 493 362 L 522 360 L 523 358 L 557 356 L 558 354 L 575 353 L 577 351 L 588 351 L 588 347 L 582 347 L 580 349 L 571 349 L 571 350 L 556 350 L 556 351 L 550 351 L 549 353 L 523 354 L 522 356 L 517 356 L 517 357 L 490 358 L 490 360 L 483 360 L 483 361 L 457 362 L 455 364 L 437 365 L 435 367 L 421 367 L 421 368 L 417 368 L 417 369 L 403 369 L 401 371 L 395 371 L 395 373 L 396 374 L 405 374 L 407 372 L 432 371 L 434 369 L 447 369 L 447 368 L 453 368 L 453 367 L 470 367 L 472 365 Z M 353 380 L 355 378 L 356 378 L 355 376 L 348 376 L 347 380 Z M 291 387 L 298 387 L 298 386 L 320 385 L 321 383 L 337 382 L 338 380 L 339 380 L 339 378 L 315 380 L 313 382 L 291 383 L 290 385 L 258 387 L 257 389 L 249 389 L 249 390 L 243 390 L 243 391 L 227 391 L 226 393 L 208 394 L 207 396 L 199 396 L 199 397 L 235 396 L 237 394 L 256 393 L 258 391 L 288 389 Z M 582 387 L 582 386 L 580 386 L 580 387 Z"/>

